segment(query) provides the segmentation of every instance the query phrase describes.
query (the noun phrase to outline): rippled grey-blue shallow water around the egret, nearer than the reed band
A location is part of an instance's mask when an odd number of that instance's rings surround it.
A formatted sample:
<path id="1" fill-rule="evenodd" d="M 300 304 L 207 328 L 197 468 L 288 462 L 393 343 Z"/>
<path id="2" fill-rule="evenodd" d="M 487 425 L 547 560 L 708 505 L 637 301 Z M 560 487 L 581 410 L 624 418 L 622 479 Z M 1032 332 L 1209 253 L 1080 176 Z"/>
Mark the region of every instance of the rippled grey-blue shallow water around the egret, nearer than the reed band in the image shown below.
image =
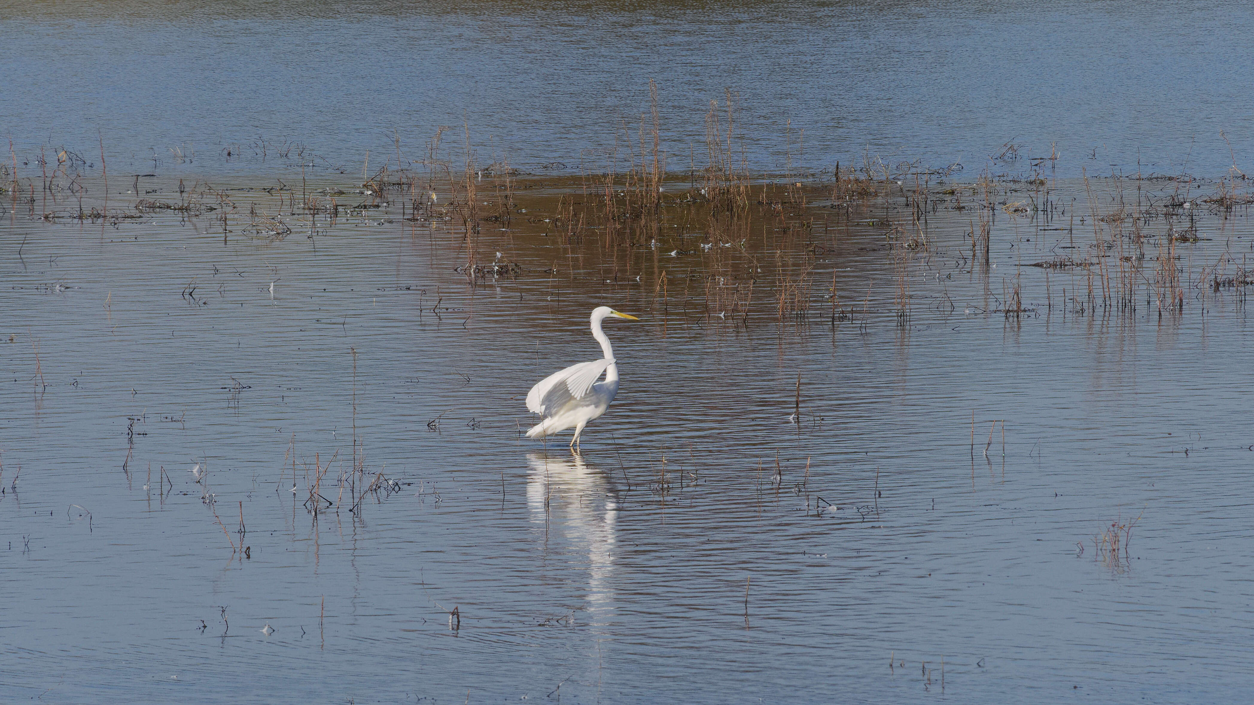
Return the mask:
<path id="1" fill-rule="evenodd" d="M 450 225 L 399 216 L 270 242 L 212 215 L 10 212 L 0 677 L 15 699 L 1220 701 L 1251 686 L 1246 317 L 1198 275 L 1240 261 L 1244 215 L 1199 217 L 1210 240 L 1181 246 L 1199 284 L 1183 314 L 1077 315 L 1023 266 L 1033 311 L 1016 321 L 982 312 L 986 278 L 957 258 L 968 216 L 940 212 L 907 326 L 874 286 L 895 275 L 870 226 L 845 227 L 815 276 L 834 270 L 867 314 L 772 322 L 766 304 L 744 326 L 653 296 L 661 271 L 700 266 L 663 255 L 683 237 L 624 256 L 518 225 L 477 246 L 520 271 L 468 280 Z M 1003 216 L 993 261 L 1075 236 L 1045 227 Z M 622 284 L 603 278 L 611 260 Z M 596 354 L 597 304 L 645 319 L 608 325 L 623 389 L 581 457 L 562 439 L 545 453 L 519 438 L 523 395 Z M 354 482 L 395 484 L 351 512 L 336 478 L 354 438 Z M 1101 559 L 1093 536 L 1136 517 L 1126 554 Z"/>

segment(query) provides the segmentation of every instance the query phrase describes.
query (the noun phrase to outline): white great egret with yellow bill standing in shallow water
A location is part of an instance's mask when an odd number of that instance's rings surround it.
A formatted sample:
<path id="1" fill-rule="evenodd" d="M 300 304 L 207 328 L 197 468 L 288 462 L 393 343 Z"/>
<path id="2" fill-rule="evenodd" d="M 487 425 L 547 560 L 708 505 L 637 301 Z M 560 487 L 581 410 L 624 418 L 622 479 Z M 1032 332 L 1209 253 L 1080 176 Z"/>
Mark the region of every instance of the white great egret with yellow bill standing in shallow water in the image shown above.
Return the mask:
<path id="1" fill-rule="evenodd" d="M 614 317 L 638 321 L 636 316 L 619 314 L 609 306 L 597 306 L 592 310 L 592 337 L 601 344 L 604 358 L 591 363 L 579 363 L 553 373 L 540 380 L 527 393 L 527 410 L 544 416 L 527 432 L 527 438 L 545 438 L 554 433 L 574 428 L 571 448 L 578 453 L 579 434 L 588 421 L 601 418 L 618 393 L 618 364 L 609 339 L 601 330 L 601 321 Z M 606 380 L 597 381 L 604 373 Z"/>

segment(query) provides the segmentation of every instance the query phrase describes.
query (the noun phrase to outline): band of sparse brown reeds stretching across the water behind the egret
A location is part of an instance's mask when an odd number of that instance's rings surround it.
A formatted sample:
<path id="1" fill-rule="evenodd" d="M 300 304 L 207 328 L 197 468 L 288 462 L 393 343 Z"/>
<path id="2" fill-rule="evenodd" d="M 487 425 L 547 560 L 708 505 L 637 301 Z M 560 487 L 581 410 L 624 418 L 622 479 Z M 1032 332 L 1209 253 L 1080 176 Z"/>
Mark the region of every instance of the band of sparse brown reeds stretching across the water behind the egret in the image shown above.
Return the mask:
<path id="1" fill-rule="evenodd" d="M 1254 192 L 1235 158 L 1215 181 L 1058 178 L 1056 149 L 1025 158 L 1012 143 L 974 178 L 962 164 L 927 168 L 870 153 L 814 171 L 794 166 L 804 133 L 785 125 L 784 168 L 762 171 L 745 156 L 731 92 L 710 103 L 706 142 L 688 154 L 662 149 L 656 87 L 652 97 L 637 124 L 619 124 L 612 147 L 586 149 L 577 169 L 557 176 L 523 173 L 505 158 L 480 164 L 463 125 L 436 130 L 419 159 L 398 134 L 381 166 L 371 171 L 379 159 L 364 157 L 360 182 L 319 168 L 302 144 L 261 142 L 253 154 L 287 159 L 285 176 L 265 184 L 176 186 L 148 173 L 114 174 L 110 189 L 102 140 L 99 169 L 64 147 L 21 169 L 10 153 L 4 209 L 114 228 L 169 213 L 226 242 L 300 236 L 315 246 L 341 225 L 393 225 L 441 237 L 470 287 L 500 277 L 584 280 L 663 327 L 892 320 L 904 329 L 923 311 L 1016 322 L 1180 316 L 1191 304 L 1240 305 L 1254 281 L 1254 243 L 1234 226 L 1248 218 Z M 245 149 L 223 148 L 227 159 Z M 963 292 L 959 310 L 963 284 L 978 290 Z"/>

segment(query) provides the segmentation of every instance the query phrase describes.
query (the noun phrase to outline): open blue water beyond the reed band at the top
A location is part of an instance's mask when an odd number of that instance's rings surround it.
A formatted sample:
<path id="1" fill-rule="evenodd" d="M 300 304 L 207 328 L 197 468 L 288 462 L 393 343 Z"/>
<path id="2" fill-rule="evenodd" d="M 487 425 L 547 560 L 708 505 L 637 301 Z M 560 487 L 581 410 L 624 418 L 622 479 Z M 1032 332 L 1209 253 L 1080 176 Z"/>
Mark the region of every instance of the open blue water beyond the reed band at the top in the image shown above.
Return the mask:
<path id="1" fill-rule="evenodd" d="M 650 79 L 672 169 L 700 156 L 726 88 L 761 168 L 791 152 L 974 173 L 1006 143 L 1023 162 L 1057 143 L 1071 174 L 1140 159 L 1219 176 L 1221 130 L 1243 168 L 1254 148 L 1245 3 L 21 3 L 0 16 L 0 130 L 24 158 L 40 143 L 95 154 L 99 133 L 118 173 L 238 173 L 228 148 L 261 168 L 262 140 L 266 168 L 301 143 L 354 173 L 366 149 L 395 166 L 395 137 L 411 161 L 463 124 L 482 163 L 574 171 L 622 124 L 638 140 Z"/>

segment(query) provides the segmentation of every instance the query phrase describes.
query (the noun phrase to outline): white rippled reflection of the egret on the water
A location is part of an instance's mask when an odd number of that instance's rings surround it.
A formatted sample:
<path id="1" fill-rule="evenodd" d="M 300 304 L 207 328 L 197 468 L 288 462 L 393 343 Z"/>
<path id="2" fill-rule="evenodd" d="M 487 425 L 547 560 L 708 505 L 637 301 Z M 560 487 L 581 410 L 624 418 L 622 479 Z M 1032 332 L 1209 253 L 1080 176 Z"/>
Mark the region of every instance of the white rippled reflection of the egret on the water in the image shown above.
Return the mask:
<path id="1" fill-rule="evenodd" d="M 588 621 L 604 623 L 613 608 L 614 523 L 618 503 L 606 475 L 582 457 L 528 453 L 527 507 L 545 524 L 551 551 L 587 554 Z M 578 558 L 577 558 L 578 559 Z"/>

